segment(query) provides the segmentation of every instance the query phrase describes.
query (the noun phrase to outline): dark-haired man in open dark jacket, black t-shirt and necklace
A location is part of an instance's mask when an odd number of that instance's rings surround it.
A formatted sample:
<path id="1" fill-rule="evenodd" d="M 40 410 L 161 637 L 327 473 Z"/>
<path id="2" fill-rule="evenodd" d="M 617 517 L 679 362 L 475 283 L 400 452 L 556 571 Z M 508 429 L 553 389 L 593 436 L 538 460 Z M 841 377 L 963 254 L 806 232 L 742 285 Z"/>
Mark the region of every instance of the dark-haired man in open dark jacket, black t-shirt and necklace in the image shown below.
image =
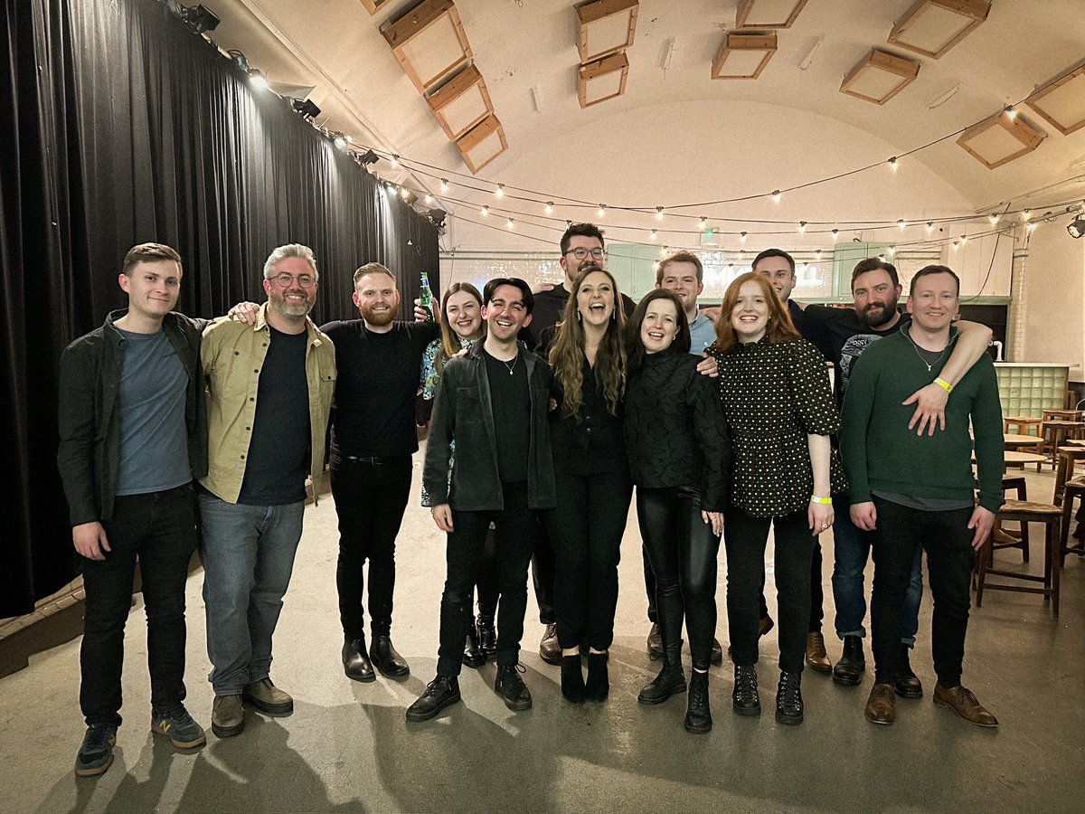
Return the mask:
<path id="1" fill-rule="evenodd" d="M 423 482 L 433 519 L 448 533 L 448 572 L 437 676 L 407 710 L 409 722 L 427 721 L 460 700 L 463 637 L 492 521 L 497 524 L 500 587 L 494 690 L 510 710 L 532 705 L 518 662 L 535 512 L 557 503 L 547 421 L 549 376 L 542 359 L 516 342 L 520 329 L 531 322 L 531 287 L 519 278 L 490 280 L 483 300 L 486 339 L 448 361 L 434 399 Z"/>

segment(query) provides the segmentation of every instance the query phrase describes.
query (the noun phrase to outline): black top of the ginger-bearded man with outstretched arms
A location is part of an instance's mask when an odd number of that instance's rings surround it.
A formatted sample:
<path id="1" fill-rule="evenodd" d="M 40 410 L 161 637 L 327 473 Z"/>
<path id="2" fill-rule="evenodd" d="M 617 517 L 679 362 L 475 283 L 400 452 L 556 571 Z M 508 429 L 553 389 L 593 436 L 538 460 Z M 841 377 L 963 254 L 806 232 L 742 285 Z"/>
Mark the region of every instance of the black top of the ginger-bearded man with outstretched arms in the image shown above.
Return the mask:
<path id="1" fill-rule="evenodd" d="M 390 457 L 418 451 L 414 397 L 422 353 L 441 334 L 434 322 L 394 322 L 387 333 L 360 319 L 321 329 L 335 344 L 332 454 Z"/>

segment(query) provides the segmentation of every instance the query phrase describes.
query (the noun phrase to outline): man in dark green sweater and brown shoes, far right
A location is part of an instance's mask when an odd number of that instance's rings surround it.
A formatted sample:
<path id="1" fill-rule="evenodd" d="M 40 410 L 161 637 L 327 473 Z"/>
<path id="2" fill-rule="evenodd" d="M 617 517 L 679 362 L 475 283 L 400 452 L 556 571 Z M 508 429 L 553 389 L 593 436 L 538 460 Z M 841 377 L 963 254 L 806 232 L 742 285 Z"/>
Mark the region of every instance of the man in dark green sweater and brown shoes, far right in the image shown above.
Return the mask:
<path id="1" fill-rule="evenodd" d="M 918 546 L 927 550 L 934 595 L 934 702 L 970 723 L 998 724 L 960 685 L 973 549 L 983 545 L 1003 505 L 1003 414 L 991 357 L 982 357 L 955 387 L 935 379 L 953 390 L 945 432 L 909 431 L 910 408 L 902 404 L 941 373 L 957 340 L 950 323 L 959 293 L 960 281 L 946 266 L 917 271 L 908 296 L 911 325 L 867 348 L 844 399 L 841 451 L 852 521 L 876 533 L 870 603 L 876 673 L 866 716 L 878 724 L 892 724 L 895 716 L 904 596 Z M 970 421 L 979 505 L 973 499 Z"/>

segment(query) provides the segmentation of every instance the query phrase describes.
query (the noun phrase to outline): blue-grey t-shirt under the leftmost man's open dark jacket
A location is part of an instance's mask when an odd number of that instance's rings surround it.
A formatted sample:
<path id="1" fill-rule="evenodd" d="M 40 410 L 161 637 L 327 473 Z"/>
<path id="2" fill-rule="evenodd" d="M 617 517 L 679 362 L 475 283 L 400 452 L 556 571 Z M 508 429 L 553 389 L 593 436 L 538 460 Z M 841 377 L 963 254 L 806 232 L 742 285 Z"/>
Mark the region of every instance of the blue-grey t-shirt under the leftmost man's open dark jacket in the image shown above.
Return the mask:
<path id="1" fill-rule="evenodd" d="M 184 365 L 165 331 L 117 331 L 125 340 L 117 495 L 145 495 L 189 483 Z"/>

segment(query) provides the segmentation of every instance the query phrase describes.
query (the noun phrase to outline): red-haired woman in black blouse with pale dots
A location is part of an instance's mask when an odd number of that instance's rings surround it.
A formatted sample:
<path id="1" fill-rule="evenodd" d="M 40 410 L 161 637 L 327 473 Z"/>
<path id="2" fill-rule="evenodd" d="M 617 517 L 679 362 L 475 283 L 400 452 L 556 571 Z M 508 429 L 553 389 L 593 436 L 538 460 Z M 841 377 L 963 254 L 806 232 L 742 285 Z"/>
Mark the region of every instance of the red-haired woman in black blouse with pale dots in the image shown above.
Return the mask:
<path id="1" fill-rule="evenodd" d="M 810 557 L 817 535 L 832 525 L 832 493 L 844 487 L 829 444 L 840 417 L 825 360 L 800 339 L 766 278 L 750 272 L 730 284 L 716 336 L 712 353 L 719 360 L 733 466 L 724 532 L 733 707 L 744 715 L 761 713 L 757 595 L 771 523 L 780 621 L 776 720 L 800 724 Z"/>

